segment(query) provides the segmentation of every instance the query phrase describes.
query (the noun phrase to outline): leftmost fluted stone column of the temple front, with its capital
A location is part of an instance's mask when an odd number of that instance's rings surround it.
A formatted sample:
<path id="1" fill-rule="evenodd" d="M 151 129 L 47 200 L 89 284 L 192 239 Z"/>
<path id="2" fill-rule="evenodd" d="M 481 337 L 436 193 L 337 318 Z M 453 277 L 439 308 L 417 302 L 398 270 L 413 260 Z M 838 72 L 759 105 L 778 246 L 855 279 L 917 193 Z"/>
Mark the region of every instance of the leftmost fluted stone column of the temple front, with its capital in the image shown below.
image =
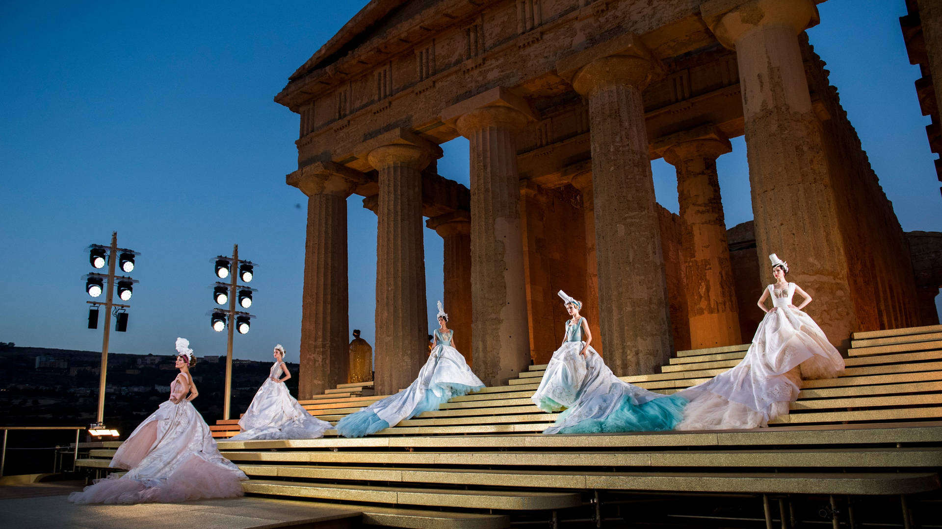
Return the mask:
<path id="1" fill-rule="evenodd" d="M 286 182 L 308 197 L 298 373 L 298 397 L 306 399 L 347 381 L 347 197 L 365 177 L 318 162 Z"/>

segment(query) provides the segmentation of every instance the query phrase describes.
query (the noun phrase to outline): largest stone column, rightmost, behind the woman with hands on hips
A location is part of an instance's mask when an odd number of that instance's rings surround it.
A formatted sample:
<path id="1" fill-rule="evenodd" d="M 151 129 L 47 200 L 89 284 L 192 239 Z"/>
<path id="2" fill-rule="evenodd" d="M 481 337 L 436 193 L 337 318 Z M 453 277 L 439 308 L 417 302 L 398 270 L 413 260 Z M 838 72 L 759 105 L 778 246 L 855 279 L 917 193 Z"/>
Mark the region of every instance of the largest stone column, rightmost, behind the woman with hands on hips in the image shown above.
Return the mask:
<path id="1" fill-rule="evenodd" d="M 739 63 L 761 281 L 772 281 L 767 255 L 788 261 L 821 329 L 846 346 L 856 325 L 847 255 L 798 42 L 818 9 L 813 0 L 712 0 L 701 13 Z"/>

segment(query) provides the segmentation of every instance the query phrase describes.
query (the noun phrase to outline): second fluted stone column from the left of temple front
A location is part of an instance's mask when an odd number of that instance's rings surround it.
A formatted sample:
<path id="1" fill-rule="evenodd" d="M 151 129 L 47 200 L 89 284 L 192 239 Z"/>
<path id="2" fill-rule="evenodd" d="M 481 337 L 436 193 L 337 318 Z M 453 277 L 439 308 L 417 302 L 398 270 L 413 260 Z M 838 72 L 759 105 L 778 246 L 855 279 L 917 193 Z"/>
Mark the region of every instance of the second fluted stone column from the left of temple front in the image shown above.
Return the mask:
<path id="1" fill-rule="evenodd" d="M 358 152 L 379 171 L 375 389 L 396 393 L 412 383 L 427 360 L 421 171 L 442 150 L 396 129 L 365 142 Z"/>

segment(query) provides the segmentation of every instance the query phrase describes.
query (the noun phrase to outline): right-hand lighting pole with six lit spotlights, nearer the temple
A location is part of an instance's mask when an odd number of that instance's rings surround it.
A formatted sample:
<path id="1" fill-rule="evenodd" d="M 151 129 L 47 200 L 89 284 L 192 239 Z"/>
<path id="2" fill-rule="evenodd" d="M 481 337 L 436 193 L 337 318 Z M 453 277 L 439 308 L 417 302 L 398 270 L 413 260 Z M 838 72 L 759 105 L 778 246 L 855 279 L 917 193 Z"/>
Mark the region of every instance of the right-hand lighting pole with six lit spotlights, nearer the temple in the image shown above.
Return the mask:
<path id="1" fill-rule="evenodd" d="M 233 245 L 233 256 L 218 255 L 212 259 L 216 266 L 216 277 L 220 280 L 229 278 L 229 282 L 216 281 L 213 285 L 213 301 L 220 306 L 228 305 L 228 309 L 216 308 L 211 311 L 209 324 L 213 330 L 222 332 L 228 328 L 229 339 L 226 344 L 226 385 L 222 403 L 222 419 L 229 419 L 229 401 L 232 394 L 233 383 L 233 332 L 246 334 L 251 327 L 250 320 L 254 317 L 250 313 L 235 310 L 235 302 L 239 307 L 248 309 L 252 306 L 252 293 L 255 289 L 238 284 L 238 281 L 252 281 L 254 267 L 251 261 L 242 261 L 238 258 L 238 245 Z"/>

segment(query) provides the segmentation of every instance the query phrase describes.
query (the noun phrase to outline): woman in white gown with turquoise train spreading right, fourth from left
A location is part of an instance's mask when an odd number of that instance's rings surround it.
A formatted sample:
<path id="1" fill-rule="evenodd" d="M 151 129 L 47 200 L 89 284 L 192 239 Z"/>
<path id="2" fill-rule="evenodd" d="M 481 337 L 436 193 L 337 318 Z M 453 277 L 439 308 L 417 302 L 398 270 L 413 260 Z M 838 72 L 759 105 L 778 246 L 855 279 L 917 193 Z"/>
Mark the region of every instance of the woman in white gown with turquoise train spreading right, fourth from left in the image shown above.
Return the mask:
<path id="1" fill-rule="evenodd" d="M 572 319 L 566 321 L 562 345 L 553 353 L 540 387 L 531 399 L 544 411 L 565 411 L 543 433 L 674 429 L 683 416 L 687 400 L 649 392 L 615 377 L 590 345 L 589 324 L 579 316 L 582 303 L 561 290 L 559 294 Z"/>

